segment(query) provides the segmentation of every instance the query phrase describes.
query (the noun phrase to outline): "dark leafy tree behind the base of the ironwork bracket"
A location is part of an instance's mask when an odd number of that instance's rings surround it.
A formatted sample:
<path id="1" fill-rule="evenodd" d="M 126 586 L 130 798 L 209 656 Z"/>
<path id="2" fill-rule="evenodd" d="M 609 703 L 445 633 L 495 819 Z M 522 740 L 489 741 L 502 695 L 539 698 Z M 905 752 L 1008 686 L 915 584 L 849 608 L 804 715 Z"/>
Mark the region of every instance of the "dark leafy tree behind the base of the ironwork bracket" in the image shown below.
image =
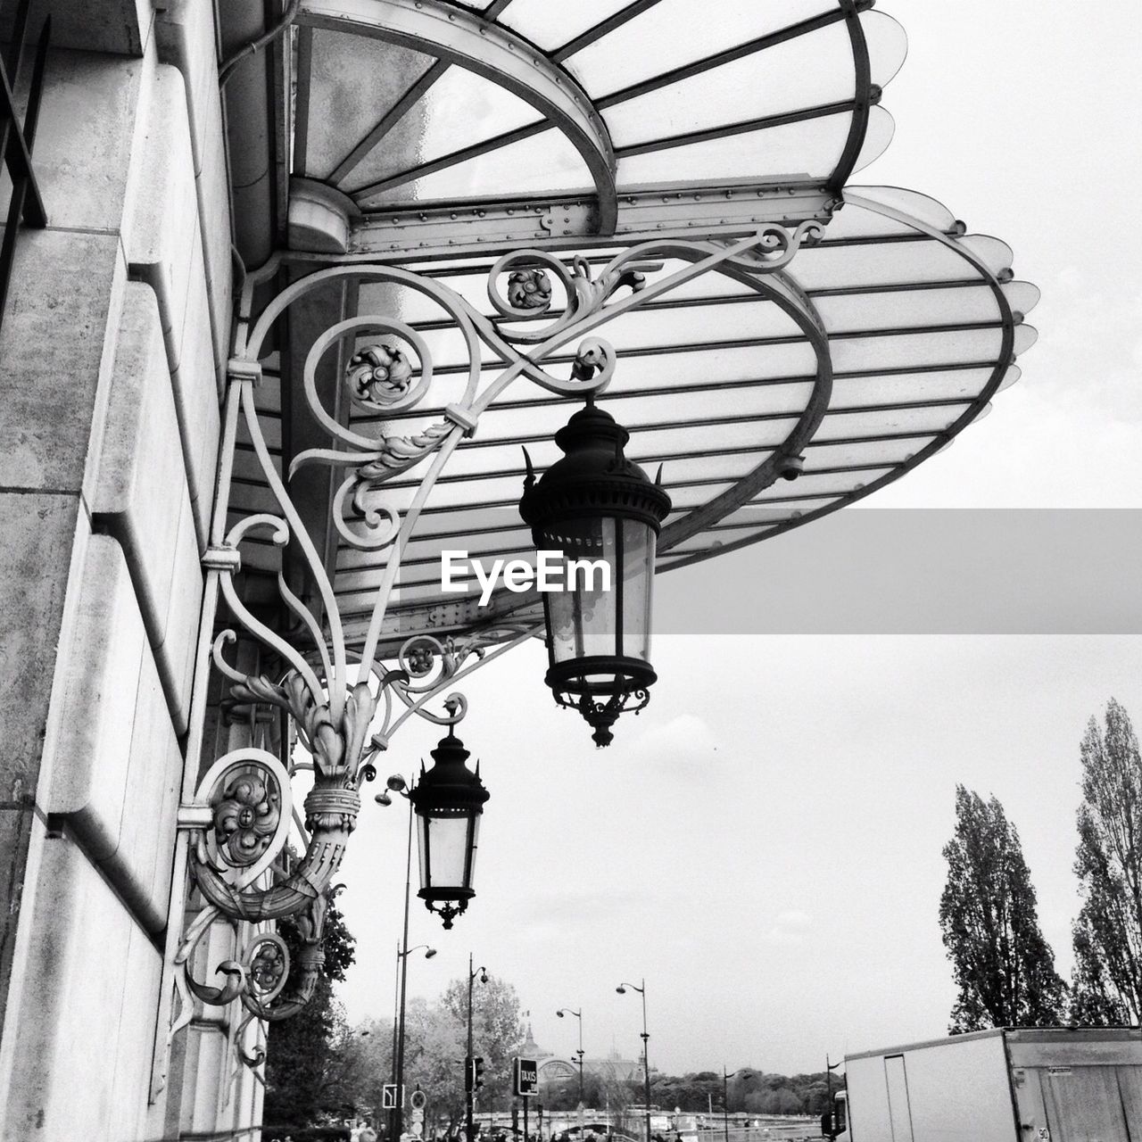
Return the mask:
<path id="1" fill-rule="evenodd" d="M 282 919 L 278 932 L 296 970 L 300 948 L 297 922 L 292 917 Z M 353 1105 L 354 1036 L 344 1008 L 333 998 L 332 983 L 345 979 L 345 970 L 354 959 L 354 943 L 337 904 L 330 900 L 322 943 L 325 963 L 313 998 L 297 1015 L 270 1028 L 263 1120 L 271 1126 L 280 1124 L 295 1131 L 315 1126 Z M 274 1136 L 266 1134 L 267 1139 Z"/>

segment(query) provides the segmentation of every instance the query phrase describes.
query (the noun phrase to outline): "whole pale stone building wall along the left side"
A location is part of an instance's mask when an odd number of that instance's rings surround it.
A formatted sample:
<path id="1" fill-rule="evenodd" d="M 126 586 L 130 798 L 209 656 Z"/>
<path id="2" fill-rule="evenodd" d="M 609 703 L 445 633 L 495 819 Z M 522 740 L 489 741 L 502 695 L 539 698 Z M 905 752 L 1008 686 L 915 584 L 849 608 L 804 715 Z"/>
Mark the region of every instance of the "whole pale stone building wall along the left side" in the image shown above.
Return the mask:
<path id="1" fill-rule="evenodd" d="M 150 1099 L 230 196 L 211 0 L 50 7 L 0 329 L 0 1139 L 126 1142 L 260 1112 L 224 1021 Z"/>

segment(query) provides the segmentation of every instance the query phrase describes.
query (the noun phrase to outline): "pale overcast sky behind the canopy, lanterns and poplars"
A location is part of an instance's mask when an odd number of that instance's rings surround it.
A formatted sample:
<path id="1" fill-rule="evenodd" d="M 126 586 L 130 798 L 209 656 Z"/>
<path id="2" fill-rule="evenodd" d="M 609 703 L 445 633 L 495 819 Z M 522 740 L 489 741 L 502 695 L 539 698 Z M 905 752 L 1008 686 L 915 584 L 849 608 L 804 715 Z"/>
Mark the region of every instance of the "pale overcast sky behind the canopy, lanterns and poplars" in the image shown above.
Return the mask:
<path id="1" fill-rule="evenodd" d="M 932 194 L 1004 239 L 1043 300 L 1022 380 L 868 506 L 1139 507 L 1134 6 L 879 7 L 907 29 L 909 58 L 885 91 L 895 138 L 856 182 Z M 731 606 L 764 593 L 763 565 L 761 549 L 725 556 L 675 590 Z M 942 1035 L 940 850 L 957 781 L 995 793 L 1019 827 L 1069 973 L 1078 741 L 1111 695 L 1142 719 L 1142 638 L 665 636 L 654 665 L 650 707 L 605 751 L 554 709 L 538 644 L 464 687 L 460 733 L 492 794 L 477 896 L 452 932 L 413 901 L 410 943 L 440 955 L 410 960 L 410 995 L 437 996 L 471 949 L 515 984 L 542 1046 L 574 1048 L 555 1010 L 581 1006 L 588 1057 L 634 1056 L 638 997 L 614 988 L 645 976 L 651 1064 L 676 1072 L 818 1070 L 826 1051 Z M 436 737 L 402 731 L 381 774 L 411 777 Z M 392 1013 L 405 813 L 367 803 L 344 866 L 353 1019 Z"/>

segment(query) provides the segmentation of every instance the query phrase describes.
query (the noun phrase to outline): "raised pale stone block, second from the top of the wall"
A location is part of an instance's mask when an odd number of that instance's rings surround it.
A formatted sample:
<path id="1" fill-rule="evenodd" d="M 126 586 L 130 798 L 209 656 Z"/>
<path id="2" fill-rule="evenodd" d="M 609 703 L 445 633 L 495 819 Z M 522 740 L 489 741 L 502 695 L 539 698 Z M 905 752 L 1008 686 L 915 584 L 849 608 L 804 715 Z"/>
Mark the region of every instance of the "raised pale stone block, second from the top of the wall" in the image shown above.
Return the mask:
<path id="1" fill-rule="evenodd" d="M 154 291 L 128 282 L 91 513 L 128 554 L 152 646 L 167 635 L 175 542 L 187 499 Z"/>

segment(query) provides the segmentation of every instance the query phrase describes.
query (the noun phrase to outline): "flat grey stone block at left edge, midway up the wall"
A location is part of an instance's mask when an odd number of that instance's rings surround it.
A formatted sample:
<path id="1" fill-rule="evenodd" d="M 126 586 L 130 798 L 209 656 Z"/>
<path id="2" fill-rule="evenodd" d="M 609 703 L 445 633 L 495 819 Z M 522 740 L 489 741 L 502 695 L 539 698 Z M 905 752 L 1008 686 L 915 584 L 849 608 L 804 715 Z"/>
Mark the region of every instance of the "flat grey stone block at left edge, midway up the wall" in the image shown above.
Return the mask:
<path id="1" fill-rule="evenodd" d="M 35 795 L 69 565 L 87 533 L 78 494 L 0 492 L 0 802 Z"/>

